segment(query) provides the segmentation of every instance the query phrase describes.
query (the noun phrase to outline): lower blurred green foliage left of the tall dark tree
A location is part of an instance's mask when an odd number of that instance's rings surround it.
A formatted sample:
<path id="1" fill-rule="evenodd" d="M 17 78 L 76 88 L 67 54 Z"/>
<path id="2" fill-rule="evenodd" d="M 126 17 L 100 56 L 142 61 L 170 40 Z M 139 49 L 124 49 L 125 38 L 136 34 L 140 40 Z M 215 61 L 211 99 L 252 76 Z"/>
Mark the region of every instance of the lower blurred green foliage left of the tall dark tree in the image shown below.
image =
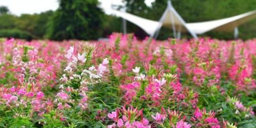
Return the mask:
<path id="1" fill-rule="evenodd" d="M 33 15 L 22 14 L 19 17 L 11 14 L 0 15 L 2 37 L 42 39 L 46 34 L 51 15 L 53 15 L 53 11 Z"/>

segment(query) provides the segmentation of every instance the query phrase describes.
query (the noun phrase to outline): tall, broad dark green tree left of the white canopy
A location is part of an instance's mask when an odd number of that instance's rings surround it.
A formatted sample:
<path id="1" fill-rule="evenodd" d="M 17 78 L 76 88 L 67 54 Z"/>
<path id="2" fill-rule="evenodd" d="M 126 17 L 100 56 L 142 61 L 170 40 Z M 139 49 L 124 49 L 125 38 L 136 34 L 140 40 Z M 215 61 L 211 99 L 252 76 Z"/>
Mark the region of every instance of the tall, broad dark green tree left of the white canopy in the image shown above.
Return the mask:
<path id="1" fill-rule="evenodd" d="M 60 0 L 48 37 L 53 40 L 99 38 L 103 12 L 97 6 L 97 0 Z"/>

